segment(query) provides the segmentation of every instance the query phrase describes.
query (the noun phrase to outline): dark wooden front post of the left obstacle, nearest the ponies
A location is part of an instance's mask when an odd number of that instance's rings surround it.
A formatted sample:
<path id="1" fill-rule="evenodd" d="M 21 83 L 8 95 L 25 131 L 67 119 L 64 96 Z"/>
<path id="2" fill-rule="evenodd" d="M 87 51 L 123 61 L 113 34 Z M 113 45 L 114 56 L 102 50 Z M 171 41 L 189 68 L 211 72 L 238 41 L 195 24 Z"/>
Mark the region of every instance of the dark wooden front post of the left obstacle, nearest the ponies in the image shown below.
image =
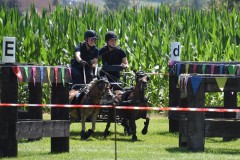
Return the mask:
<path id="1" fill-rule="evenodd" d="M 68 95 L 67 84 L 52 83 L 52 104 L 69 104 Z M 51 108 L 51 119 L 69 120 L 69 108 Z M 69 152 L 69 137 L 52 137 L 51 152 Z"/>

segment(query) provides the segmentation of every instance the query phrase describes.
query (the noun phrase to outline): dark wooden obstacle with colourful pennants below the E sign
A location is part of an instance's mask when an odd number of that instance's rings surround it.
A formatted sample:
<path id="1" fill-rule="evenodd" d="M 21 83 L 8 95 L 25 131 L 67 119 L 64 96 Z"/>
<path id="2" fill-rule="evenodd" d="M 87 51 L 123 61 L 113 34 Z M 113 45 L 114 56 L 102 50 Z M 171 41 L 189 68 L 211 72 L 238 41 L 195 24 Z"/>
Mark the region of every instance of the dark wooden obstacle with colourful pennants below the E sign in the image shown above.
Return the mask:
<path id="1" fill-rule="evenodd" d="M 51 103 L 69 104 L 70 72 L 64 66 L 0 64 L 1 103 L 18 103 L 19 83 L 28 83 L 29 103 L 42 104 L 42 84 L 51 85 Z M 69 152 L 69 108 L 51 108 L 51 120 L 43 120 L 42 107 L 0 107 L 0 157 L 16 157 L 18 140 L 51 137 L 51 152 Z"/>

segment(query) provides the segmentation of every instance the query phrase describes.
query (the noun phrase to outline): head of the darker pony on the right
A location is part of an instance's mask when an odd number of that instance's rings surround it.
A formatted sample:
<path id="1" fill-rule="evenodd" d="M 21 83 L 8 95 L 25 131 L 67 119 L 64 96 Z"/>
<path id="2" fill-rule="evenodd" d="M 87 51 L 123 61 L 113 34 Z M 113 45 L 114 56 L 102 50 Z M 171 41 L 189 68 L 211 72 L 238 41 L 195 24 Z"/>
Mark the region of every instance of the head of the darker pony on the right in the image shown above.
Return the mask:
<path id="1" fill-rule="evenodd" d="M 143 71 L 139 71 L 135 73 L 135 79 L 136 79 L 136 85 L 139 85 L 141 87 L 141 89 L 147 89 L 148 86 L 148 81 L 149 81 L 149 77 L 147 76 L 147 74 Z"/>

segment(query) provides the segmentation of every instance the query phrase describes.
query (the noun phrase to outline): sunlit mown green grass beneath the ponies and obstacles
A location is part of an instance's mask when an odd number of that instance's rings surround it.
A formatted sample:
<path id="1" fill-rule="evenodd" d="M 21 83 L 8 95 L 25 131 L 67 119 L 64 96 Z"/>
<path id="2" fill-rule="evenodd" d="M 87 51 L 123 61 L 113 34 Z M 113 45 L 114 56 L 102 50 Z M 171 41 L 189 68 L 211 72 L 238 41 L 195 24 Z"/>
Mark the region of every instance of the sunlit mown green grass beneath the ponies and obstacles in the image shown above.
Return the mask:
<path id="1" fill-rule="evenodd" d="M 240 141 L 223 142 L 222 138 L 206 138 L 205 152 L 192 153 L 178 147 L 178 134 L 168 132 L 168 118 L 151 115 L 149 132 L 141 135 L 143 120 L 137 121 L 138 138 L 132 142 L 131 137 L 123 135 L 123 128 L 117 124 L 117 141 L 115 143 L 114 124 L 112 134 L 102 139 L 105 123 L 98 123 L 96 132 L 86 141 L 80 140 L 80 123 L 71 125 L 70 152 L 62 154 L 50 153 L 50 138 L 40 141 L 20 141 L 18 158 L 31 160 L 227 160 L 240 159 Z M 90 123 L 87 124 L 90 127 Z M 116 145 L 115 145 L 116 144 Z M 116 146 L 116 152 L 115 152 Z"/>

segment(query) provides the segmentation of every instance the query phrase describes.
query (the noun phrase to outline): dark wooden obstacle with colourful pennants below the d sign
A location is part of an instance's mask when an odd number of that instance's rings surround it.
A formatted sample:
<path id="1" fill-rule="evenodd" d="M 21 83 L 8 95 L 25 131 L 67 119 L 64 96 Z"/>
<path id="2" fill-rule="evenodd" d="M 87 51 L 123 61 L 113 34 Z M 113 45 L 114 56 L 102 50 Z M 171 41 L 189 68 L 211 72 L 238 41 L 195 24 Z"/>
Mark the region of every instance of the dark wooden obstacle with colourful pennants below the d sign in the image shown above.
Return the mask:
<path id="1" fill-rule="evenodd" d="M 205 93 L 223 92 L 224 106 L 217 108 L 237 109 L 240 62 L 171 62 L 169 71 L 170 107 L 209 108 Z M 205 137 L 239 138 L 239 126 L 234 111 L 169 112 L 169 131 L 179 131 L 179 146 L 190 151 L 204 151 Z"/>

